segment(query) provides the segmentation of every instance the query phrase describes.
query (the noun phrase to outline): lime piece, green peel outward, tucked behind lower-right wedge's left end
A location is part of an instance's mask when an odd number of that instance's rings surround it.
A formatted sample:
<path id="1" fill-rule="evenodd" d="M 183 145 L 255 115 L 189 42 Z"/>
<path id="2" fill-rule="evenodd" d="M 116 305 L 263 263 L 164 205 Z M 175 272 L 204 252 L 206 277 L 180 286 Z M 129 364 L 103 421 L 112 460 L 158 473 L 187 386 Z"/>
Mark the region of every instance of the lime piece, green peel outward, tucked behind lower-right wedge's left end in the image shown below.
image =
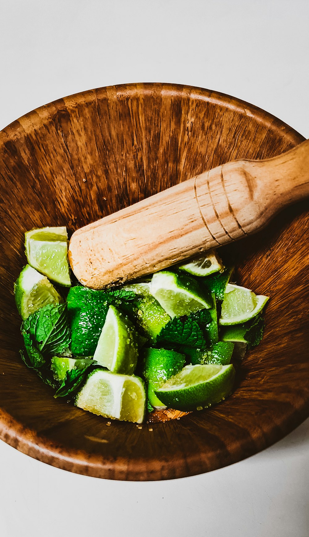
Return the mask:
<path id="1" fill-rule="evenodd" d="M 163 382 L 170 379 L 185 365 L 185 356 L 175 351 L 165 349 L 145 349 L 143 362 L 143 375 L 148 381 L 148 399 L 152 407 L 165 408 L 154 390 Z"/>

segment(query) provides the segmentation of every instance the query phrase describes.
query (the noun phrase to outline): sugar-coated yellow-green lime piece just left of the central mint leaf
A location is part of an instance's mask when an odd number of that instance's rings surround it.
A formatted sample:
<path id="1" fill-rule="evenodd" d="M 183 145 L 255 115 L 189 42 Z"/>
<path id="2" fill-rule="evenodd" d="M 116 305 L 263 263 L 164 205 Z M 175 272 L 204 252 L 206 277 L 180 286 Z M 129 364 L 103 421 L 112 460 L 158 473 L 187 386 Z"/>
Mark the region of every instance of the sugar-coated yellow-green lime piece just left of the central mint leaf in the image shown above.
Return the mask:
<path id="1" fill-rule="evenodd" d="M 137 307 L 137 323 L 146 332 L 146 335 L 156 340 L 161 329 L 171 321 L 170 315 L 151 295 L 141 297 L 137 301 Z"/>

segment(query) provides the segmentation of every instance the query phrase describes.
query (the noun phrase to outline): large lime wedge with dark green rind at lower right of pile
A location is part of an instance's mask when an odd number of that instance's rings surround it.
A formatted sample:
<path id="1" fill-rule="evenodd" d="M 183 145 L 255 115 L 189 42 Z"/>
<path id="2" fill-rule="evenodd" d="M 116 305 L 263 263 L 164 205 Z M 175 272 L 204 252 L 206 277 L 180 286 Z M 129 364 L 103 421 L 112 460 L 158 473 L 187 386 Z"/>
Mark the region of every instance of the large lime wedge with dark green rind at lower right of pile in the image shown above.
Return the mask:
<path id="1" fill-rule="evenodd" d="M 168 408 L 194 410 L 219 403 L 231 393 L 235 369 L 230 365 L 189 365 L 156 390 Z"/>

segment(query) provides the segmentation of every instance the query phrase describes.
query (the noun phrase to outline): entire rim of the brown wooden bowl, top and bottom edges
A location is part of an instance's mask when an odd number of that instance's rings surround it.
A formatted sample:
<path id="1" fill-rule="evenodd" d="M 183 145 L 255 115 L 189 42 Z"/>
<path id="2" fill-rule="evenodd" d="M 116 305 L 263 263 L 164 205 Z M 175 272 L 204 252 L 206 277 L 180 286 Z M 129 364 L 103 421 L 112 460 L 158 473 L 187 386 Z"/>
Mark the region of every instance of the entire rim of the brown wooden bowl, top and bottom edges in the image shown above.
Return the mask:
<path id="1" fill-rule="evenodd" d="M 183 95 L 189 95 L 192 98 L 210 101 L 213 104 L 225 106 L 233 111 L 239 111 L 242 114 L 245 113 L 245 115 L 254 117 L 256 121 L 263 123 L 264 126 L 268 126 L 273 131 L 280 134 L 284 133 L 286 140 L 289 140 L 293 145 L 305 140 L 304 136 L 276 118 L 273 114 L 244 100 L 229 96 L 226 93 L 190 85 L 146 82 L 118 84 L 86 90 L 35 108 L 0 131 L 0 146 L 8 140 L 16 140 L 20 136 L 33 132 L 36 127 L 41 126 L 43 121 L 50 119 L 63 105 L 72 109 L 78 104 L 92 101 L 93 98 L 99 99 L 101 96 L 106 96 L 106 93 L 109 94 L 109 98 L 118 99 L 124 96 L 134 96 L 141 92 L 151 95 L 158 91 L 163 92 L 165 95 L 179 95 L 181 92 Z M 226 465 L 220 462 L 216 466 L 214 463 L 211 468 L 207 467 L 207 463 L 204 463 L 203 466 L 201 461 L 196 461 L 196 465 L 193 464 L 190 468 L 188 466 L 183 467 L 183 460 L 179 457 L 172 461 L 153 460 L 154 465 L 149 470 L 145 469 L 144 459 L 135 458 L 134 467 L 132 466 L 128 469 L 128 460 L 126 458 L 119 456 L 117 459 L 103 458 L 102 455 L 89 454 L 83 450 L 67 448 L 63 445 L 56 444 L 46 437 L 40 436 L 35 431 L 24 427 L 23 424 L 2 409 L 0 409 L 0 439 L 18 449 L 18 451 L 32 456 L 34 459 L 74 473 L 114 480 L 153 481 L 201 474 L 206 471 L 222 468 L 223 466 L 238 462 L 260 452 L 262 449 L 283 438 L 285 434 L 291 432 L 309 416 L 309 408 L 305 408 L 305 405 L 302 408 L 294 409 L 294 412 L 293 419 L 288 419 L 288 423 L 281 424 L 282 430 L 279 434 L 276 434 L 275 440 L 273 438 L 264 439 L 262 448 L 255 447 L 251 450 L 249 449 L 245 454 L 241 453 L 241 450 L 238 450 L 237 453 L 233 454 L 232 461 L 227 461 Z M 186 417 L 181 419 L 185 421 Z"/>

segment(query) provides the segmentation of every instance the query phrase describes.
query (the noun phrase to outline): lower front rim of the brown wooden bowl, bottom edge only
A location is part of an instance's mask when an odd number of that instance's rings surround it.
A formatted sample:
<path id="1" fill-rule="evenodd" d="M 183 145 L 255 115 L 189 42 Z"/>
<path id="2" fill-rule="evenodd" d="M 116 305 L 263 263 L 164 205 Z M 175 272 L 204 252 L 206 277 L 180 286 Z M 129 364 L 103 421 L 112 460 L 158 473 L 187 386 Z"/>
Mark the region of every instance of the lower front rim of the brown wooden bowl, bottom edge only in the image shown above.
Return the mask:
<path id="1" fill-rule="evenodd" d="M 270 432 L 266 436 L 259 431 L 254 438 L 254 447 L 248 449 L 246 446 L 244 450 L 239 444 L 237 449 L 230 453 L 229 458 L 218 457 L 217 464 L 212 461 L 211 468 L 208 467 L 201 453 L 193 453 L 189 459 L 179 457 L 168 462 L 160 459 L 150 462 L 149 459 L 139 458 L 134 459 L 130 465 L 127 458 L 106 458 L 96 454 L 89 455 L 82 450 L 67 449 L 61 444 L 38 436 L 3 410 L 0 410 L 0 440 L 33 459 L 75 474 L 116 481 L 162 481 L 207 473 L 245 460 L 274 445 L 308 417 L 307 405 L 301 409 L 293 409 L 284 423 L 277 424 L 275 433 Z M 185 420 L 186 416 L 181 419 Z M 224 460 L 223 464 L 222 460 Z"/>

